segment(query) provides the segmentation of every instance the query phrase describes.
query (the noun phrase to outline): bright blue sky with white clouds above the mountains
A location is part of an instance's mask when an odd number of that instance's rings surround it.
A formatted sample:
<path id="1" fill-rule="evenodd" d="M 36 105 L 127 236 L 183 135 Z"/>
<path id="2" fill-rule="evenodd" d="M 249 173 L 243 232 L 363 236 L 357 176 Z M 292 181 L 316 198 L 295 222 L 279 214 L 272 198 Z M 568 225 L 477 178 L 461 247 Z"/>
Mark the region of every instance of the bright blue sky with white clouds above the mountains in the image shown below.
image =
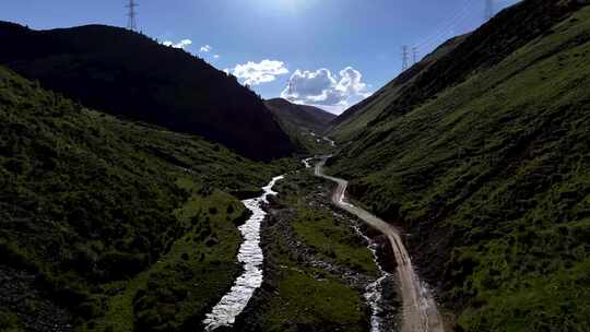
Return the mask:
<path id="1" fill-rule="evenodd" d="M 334 112 L 385 85 L 401 47 L 422 57 L 484 22 L 484 0 L 138 0 L 139 28 L 236 74 L 266 98 Z M 33 28 L 125 26 L 126 0 L 2 0 Z M 496 11 L 517 0 L 495 0 Z M 184 40 L 184 43 L 181 43 Z M 288 86 L 288 87 L 287 87 Z"/>

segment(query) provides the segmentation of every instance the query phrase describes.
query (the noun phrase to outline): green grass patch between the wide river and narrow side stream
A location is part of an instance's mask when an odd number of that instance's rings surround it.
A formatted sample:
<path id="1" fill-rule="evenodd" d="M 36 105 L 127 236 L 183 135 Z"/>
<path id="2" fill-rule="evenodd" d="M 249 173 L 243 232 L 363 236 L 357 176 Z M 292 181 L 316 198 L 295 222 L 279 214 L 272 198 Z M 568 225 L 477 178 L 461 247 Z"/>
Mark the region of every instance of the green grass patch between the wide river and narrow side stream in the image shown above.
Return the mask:
<path id="1" fill-rule="evenodd" d="M 338 276 L 306 268 L 292 256 L 284 239 L 271 235 L 268 260 L 276 292 L 262 305 L 262 331 L 365 331 L 367 307 L 362 294 Z"/>

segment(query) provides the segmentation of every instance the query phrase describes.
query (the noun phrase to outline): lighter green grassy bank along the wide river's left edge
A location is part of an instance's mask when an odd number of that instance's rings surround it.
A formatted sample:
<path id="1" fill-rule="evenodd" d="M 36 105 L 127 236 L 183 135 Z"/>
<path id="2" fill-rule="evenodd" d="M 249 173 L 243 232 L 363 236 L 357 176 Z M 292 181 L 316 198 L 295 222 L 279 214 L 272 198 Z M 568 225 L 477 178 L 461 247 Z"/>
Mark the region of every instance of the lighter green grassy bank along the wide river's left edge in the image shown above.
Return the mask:
<path id="1" fill-rule="evenodd" d="M 220 212 L 211 214 L 212 208 Z M 109 299 L 107 313 L 90 330 L 179 331 L 198 324 L 239 272 L 235 258 L 241 237 L 235 223 L 245 210 L 221 191 L 206 198 L 193 194 L 176 211 L 185 234 L 148 271 L 106 287 L 106 293 L 125 290 Z"/>

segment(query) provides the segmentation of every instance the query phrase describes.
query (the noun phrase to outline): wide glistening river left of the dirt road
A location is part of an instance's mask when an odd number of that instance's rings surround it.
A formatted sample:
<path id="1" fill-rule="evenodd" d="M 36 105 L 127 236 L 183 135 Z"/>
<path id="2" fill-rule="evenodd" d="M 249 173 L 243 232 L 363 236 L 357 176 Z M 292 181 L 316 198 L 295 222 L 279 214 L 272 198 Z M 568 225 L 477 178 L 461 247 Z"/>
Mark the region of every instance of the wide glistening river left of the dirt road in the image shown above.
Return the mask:
<path id="1" fill-rule="evenodd" d="M 274 185 L 284 177 L 275 177 L 262 190 L 264 193 L 256 199 L 243 201 L 252 212 L 252 216 L 239 227 L 244 242 L 239 247 L 238 261 L 244 265 L 244 273 L 235 281 L 234 286 L 203 320 L 205 331 L 214 331 L 221 327 L 232 327 L 236 317 L 246 309 L 256 289 L 262 285 L 262 263 L 264 256 L 260 248 L 260 224 L 267 216 L 262 205 L 268 197 L 274 195 Z"/>

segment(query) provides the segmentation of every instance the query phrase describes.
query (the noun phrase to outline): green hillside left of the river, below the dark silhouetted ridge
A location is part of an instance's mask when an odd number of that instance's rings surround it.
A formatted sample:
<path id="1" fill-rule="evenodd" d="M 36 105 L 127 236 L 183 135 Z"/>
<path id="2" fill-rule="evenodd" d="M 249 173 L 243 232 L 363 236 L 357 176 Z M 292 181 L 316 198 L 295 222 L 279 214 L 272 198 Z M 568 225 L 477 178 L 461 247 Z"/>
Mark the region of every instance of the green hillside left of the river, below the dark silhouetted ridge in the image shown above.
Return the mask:
<path id="1" fill-rule="evenodd" d="M 0 68 L 0 330 L 192 331 L 279 171 Z"/>

